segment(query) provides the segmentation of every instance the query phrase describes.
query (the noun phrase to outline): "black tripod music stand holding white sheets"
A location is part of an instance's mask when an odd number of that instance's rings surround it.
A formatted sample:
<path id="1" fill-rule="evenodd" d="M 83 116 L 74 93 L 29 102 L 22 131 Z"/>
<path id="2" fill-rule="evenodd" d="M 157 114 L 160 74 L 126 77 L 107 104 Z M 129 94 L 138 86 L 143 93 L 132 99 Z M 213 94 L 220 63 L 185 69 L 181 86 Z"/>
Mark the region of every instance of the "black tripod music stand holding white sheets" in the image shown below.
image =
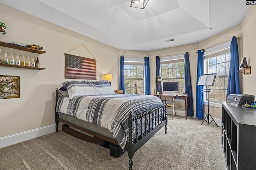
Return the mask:
<path id="1" fill-rule="evenodd" d="M 207 93 L 207 98 L 208 98 L 208 113 L 206 114 L 206 117 L 204 118 L 204 121 L 206 121 L 207 124 L 210 124 L 212 121 L 214 121 L 214 119 L 212 118 L 212 116 L 209 113 L 209 108 L 210 108 L 209 107 L 209 92 L 211 92 L 210 91 L 211 89 L 209 89 L 208 86 L 213 86 L 215 78 L 216 78 L 216 74 L 217 73 L 202 74 L 197 83 L 198 86 L 207 86 L 206 89 L 202 89 L 202 92 Z M 212 118 L 212 121 L 209 120 L 209 116 Z M 204 123 L 204 121 L 202 122 L 202 124 Z M 218 127 L 218 125 L 215 121 L 214 121 L 214 123 Z"/>

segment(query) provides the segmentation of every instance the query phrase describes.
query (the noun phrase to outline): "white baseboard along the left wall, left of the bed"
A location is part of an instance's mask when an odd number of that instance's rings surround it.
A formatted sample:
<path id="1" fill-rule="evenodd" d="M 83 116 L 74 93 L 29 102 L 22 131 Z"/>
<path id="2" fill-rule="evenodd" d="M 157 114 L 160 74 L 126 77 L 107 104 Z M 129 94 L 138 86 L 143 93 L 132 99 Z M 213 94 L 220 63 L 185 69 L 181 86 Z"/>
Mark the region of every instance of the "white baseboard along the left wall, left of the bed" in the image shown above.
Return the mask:
<path id="1" fill-rule="evenodd" d="M 60 124 L 59 124 L 59 127 L 61 127 Z M 0 138 L 0 148 L 7 147 L 7 146 L 10 146 L 10 145 L 13 145 L 16 143 L 20 143 L 23 141 L 27 141 L 29 139 L 33 139 L 33 138 L 40 137 L 43 135 L 47 135 L 47 134 L 53 133 L 53 132 L 56 132 L 55 124 L 40 127 L 37 129 L 32 129 L 30 131 L 16 133 L 14 135 L 6 136 L 6 137 L 1 137 Z"/>

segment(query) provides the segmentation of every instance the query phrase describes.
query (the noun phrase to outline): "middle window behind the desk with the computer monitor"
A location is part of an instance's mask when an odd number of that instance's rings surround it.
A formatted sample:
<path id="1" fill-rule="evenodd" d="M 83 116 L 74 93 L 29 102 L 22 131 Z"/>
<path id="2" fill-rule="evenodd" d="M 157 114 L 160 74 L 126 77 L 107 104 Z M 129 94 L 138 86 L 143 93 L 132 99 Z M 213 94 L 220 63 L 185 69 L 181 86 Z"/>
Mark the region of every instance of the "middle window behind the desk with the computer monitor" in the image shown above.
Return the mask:
<path id="1" fill-rule="evenodd" d="M 162 82 L 179 82 L 179 93 L 184 93 L 184 54 L 161 57 Z"/>

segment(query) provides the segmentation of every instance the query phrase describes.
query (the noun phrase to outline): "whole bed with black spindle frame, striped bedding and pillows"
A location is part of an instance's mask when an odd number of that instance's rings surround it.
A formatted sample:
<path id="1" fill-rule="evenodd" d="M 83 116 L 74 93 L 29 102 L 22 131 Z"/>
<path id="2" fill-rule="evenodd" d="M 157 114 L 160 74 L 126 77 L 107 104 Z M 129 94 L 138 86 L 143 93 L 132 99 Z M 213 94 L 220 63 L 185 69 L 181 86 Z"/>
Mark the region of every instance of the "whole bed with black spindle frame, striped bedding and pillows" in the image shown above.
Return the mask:
<path id="1" fill-rule="evenodd" d="M 80 139 L 110 144 L 111 156 L 118 157 L 127 150 L 130 170 L 134 152 L 162 127 L 167 133 L 166 112 L 166 102 L 158 97 L 115 94 L 108 80 L 71 80 L 56 88 L 56 132 L 62 122 L 62 130 L 70 135 L 83 132 Z"/>

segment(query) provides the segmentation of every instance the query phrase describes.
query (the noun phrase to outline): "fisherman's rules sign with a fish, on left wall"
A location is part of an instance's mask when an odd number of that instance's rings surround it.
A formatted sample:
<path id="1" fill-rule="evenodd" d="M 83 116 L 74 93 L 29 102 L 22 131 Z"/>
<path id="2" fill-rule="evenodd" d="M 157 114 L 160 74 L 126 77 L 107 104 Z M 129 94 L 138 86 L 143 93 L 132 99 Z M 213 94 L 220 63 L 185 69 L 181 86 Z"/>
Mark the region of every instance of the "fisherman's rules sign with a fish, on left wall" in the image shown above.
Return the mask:
<path id="1" fill-rule="evenodd" d="M 0 99 L 20 98 L 20 76 L 0 75 Z"/>

